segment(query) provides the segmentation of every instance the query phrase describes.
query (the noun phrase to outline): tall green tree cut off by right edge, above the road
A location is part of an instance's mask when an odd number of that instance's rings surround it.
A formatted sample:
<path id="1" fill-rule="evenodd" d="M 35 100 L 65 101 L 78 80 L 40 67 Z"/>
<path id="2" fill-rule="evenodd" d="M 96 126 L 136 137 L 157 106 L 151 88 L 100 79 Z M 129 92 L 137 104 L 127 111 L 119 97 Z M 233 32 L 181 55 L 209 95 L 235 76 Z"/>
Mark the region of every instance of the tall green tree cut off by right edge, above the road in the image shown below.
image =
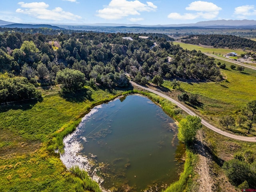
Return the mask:
<path id="1" fill-rule="evenodd" d="M 256 100 L 248 102 L 248 104 L 242 108 L 242 114 L 247 117 L 248 134 L 250 134 L 253 124 L 256 123 Z"/>

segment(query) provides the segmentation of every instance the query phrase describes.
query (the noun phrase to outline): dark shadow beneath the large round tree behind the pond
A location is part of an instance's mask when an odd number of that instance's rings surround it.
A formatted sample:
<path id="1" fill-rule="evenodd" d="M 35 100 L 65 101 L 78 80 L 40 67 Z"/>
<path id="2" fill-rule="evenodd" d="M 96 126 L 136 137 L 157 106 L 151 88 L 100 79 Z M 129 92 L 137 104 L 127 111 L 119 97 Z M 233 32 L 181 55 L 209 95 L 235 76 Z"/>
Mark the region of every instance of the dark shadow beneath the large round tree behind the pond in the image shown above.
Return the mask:
<path id="1" fill-rule="evenodd" d="M 81 103 L 88 99 L 92 101 L 90 94 L 88 94 L 88 89 L 80 89 L 76 92 L 61 92 L 60 96 L 68 102 Z"/>

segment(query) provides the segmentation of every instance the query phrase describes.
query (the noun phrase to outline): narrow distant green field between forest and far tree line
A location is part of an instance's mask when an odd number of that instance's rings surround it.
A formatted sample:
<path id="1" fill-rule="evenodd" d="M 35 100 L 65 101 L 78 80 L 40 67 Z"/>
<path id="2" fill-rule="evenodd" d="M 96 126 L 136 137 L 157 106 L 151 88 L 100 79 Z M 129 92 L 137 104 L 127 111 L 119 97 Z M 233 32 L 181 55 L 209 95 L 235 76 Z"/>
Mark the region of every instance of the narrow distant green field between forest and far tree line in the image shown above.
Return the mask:
<path id="1" fill-rule="evenodd" d="M 187 49 L 187 50 L 201 50 L 201 52 L 204 53 L 210 53 L 212 54 L 213 52 L 219 56 L 225 55 L 227 53 L 230 52 L 236 52 L 238 55 L 240 55 L 241 53 L 246 53 L 243 50 L 240 49 L 224 49 L 224 48 L 208 48 L 208 47 L 204 47 L 204 46 L 199 46 L 199 45 L 193 45 L 193 44 L 187 44 L 187 43 L 182 43 L 182 42 L 173 42 L 174 45 L 180 44 L 180 46 L 183 49 Z"/>

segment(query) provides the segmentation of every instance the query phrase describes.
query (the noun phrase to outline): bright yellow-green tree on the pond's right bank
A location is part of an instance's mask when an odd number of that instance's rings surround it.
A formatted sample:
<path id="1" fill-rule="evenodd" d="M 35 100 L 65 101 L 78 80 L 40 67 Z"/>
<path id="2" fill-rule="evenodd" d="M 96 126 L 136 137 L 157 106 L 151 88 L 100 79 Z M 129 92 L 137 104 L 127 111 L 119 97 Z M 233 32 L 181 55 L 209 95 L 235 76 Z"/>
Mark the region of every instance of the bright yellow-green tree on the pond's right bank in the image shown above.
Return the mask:
<path id="1" fill-rule="evenodd" d="M 191 144 L 200 128 L 202 128 L 201 119 L 198 116 L 188 115 L 178 125 L 178 139 L 185 144 Z"/>

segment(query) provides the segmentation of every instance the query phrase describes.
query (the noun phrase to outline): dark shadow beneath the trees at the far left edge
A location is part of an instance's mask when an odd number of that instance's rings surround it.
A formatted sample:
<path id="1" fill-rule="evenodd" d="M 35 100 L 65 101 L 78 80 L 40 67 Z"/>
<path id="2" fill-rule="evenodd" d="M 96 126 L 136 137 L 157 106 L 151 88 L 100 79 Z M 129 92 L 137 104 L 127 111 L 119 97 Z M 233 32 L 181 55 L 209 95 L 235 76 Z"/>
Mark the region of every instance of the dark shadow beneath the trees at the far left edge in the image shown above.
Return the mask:
<path id="1" fill-rule="evenodd" d="M 43 101 L 43 98 L 34 98 L 29 100 L 14 101 L 14 102 L 0 104 L 0 113 L 7 112 L 8 110 L 23 110 L 23 111 L 30 110 L 36 103 L 42 102 L 42 101 Z"/>

